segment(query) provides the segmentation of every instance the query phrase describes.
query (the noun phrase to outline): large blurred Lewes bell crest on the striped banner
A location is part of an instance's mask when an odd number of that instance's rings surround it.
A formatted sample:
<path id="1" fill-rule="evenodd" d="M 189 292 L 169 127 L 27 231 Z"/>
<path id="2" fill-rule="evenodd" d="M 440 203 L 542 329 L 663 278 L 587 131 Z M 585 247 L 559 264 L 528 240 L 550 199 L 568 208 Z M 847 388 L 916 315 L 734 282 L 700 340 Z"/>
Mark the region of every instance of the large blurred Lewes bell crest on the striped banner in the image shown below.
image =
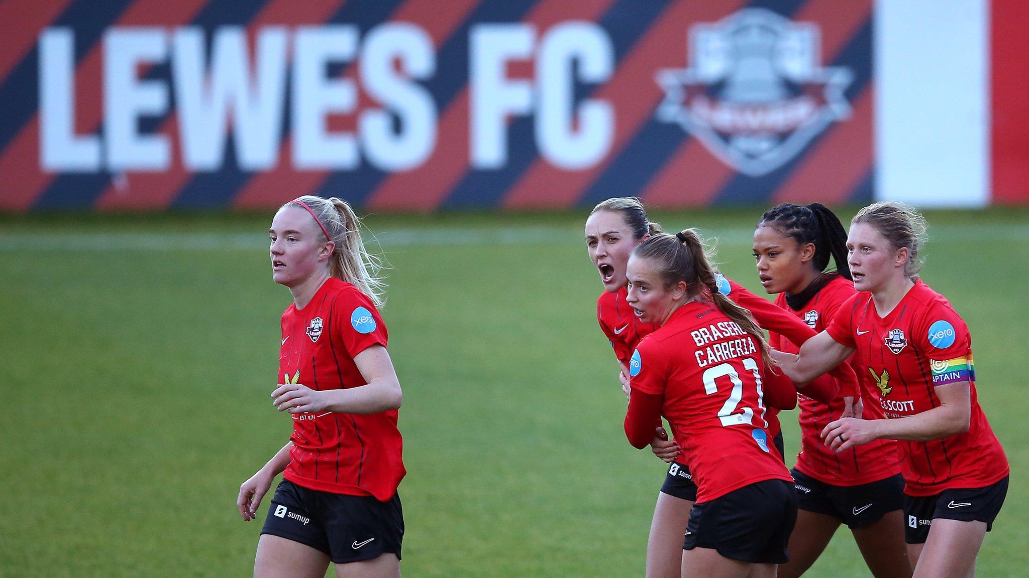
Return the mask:
<path id="1" fill-rule="evenodd" d="M 686 68 L 658 71 L 657 116 L 677 122 L 740 173 L 782 167 L 850 115 L 854 74 L 823 67 L 820 33 L 765 8 L 690 27 Z"/>

